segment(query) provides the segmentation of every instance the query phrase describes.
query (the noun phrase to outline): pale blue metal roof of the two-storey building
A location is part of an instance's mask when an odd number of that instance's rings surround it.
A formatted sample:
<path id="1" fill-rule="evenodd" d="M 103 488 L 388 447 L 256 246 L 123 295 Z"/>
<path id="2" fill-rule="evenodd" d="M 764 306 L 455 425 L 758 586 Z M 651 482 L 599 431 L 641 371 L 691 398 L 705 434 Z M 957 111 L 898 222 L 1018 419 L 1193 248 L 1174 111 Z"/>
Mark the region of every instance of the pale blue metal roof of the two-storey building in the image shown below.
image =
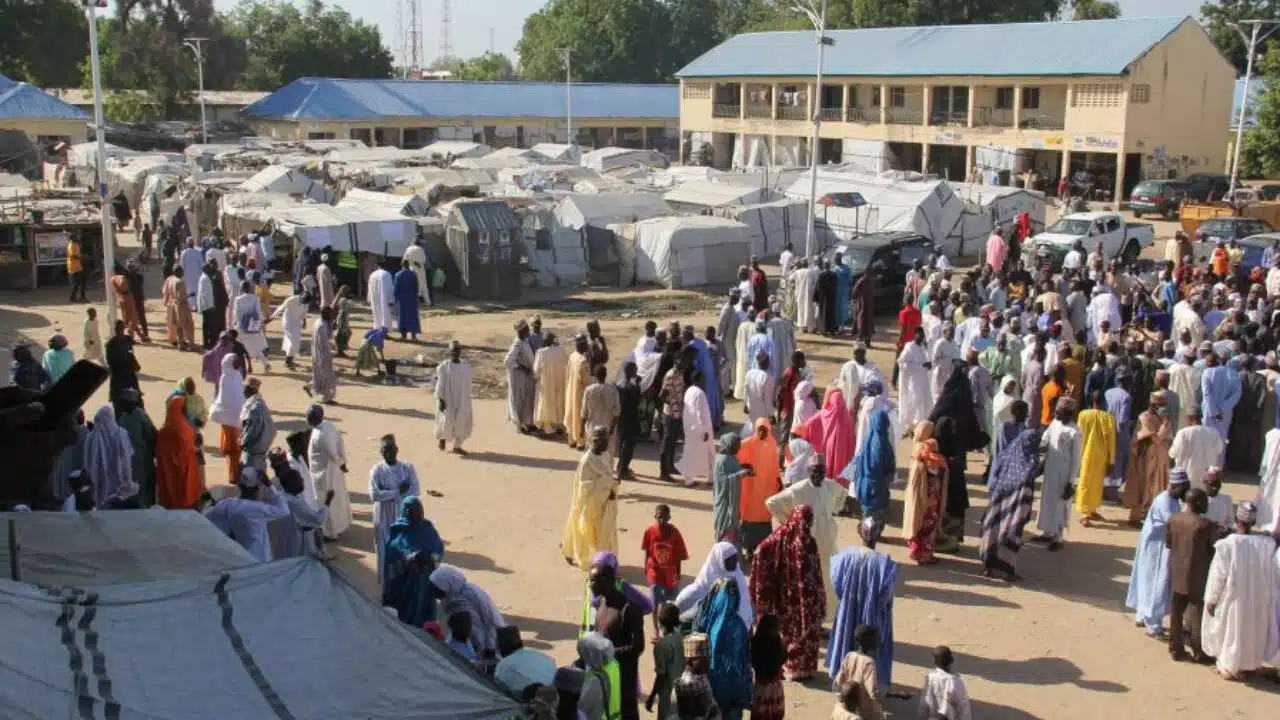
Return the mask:
<path id="1" fill-rule="evenodd" d="M 836 77 L 1119 76 L 1190 18 L 887 27 L 827 31 Z M 814 72 L 814 33 L 739 35 L 680 77 L 794 77 Z"/>

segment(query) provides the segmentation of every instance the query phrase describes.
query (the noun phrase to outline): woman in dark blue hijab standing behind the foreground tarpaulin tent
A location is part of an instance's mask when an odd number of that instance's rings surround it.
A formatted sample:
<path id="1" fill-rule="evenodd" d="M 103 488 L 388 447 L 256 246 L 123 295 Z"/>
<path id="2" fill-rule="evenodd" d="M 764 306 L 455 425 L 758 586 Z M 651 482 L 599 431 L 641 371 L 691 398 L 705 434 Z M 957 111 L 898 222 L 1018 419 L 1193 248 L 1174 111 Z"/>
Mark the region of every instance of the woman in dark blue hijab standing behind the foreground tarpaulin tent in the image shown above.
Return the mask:
<path id="1" fill-rule="evenodd" d="M 402 623 L 421 628 L 435 620 L 429 578 L 443 556 L 444 542 L 422 516 L 422 501 L 407 496 L 383 552 L 383 605 L 394 607 Z"/>

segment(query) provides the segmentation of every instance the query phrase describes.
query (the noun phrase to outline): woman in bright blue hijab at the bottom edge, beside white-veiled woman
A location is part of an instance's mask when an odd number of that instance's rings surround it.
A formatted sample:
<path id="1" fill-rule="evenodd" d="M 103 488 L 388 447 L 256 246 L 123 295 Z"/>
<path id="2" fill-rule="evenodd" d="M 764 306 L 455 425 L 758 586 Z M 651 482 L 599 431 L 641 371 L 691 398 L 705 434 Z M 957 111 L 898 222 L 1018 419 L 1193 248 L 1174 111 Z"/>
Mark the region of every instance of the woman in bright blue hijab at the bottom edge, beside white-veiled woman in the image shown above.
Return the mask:
<path id="1" fill-rule="evenodd" d="M 712 696 L 724 720 L 741 720 L 751 707 L 751 653 L 749 628 L 737 612 L 742 602 L 737 583 L 718 580 L 694 623 L 694 632 L 710 638 Z"/>

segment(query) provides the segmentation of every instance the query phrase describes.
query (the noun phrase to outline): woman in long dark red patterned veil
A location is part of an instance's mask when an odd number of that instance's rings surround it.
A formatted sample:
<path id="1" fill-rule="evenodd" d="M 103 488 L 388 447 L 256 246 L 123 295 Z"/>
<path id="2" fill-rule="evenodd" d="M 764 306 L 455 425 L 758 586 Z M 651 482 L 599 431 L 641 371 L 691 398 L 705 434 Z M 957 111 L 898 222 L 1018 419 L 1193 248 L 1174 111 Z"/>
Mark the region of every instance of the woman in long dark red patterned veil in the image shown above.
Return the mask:
<path id="1" fill-rule="evenodd" d="M 813 539 L 813 509 L 801 505 L 760 543 L 751 566 L 751 606 L 776 615 L 787 646 L 786 670 L 792 680 L 818 671 L 818 643 L 827 616 L 822 557 Z"/>

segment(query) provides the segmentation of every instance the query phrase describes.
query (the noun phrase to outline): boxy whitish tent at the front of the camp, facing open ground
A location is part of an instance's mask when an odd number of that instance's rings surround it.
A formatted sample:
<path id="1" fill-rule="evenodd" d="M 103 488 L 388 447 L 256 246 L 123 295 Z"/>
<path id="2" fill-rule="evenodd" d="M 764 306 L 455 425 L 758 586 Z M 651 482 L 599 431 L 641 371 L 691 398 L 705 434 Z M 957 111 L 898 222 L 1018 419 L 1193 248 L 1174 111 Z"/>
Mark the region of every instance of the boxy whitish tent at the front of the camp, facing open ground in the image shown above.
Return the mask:
<path id="1" fill-rule="evenodd" d="M 748 228 L 728 218 L 652 218 L 613 225 L 620 246 L 635 251 L 635 282 L 669 288 L 732 284 L 751 256 Z"/>

